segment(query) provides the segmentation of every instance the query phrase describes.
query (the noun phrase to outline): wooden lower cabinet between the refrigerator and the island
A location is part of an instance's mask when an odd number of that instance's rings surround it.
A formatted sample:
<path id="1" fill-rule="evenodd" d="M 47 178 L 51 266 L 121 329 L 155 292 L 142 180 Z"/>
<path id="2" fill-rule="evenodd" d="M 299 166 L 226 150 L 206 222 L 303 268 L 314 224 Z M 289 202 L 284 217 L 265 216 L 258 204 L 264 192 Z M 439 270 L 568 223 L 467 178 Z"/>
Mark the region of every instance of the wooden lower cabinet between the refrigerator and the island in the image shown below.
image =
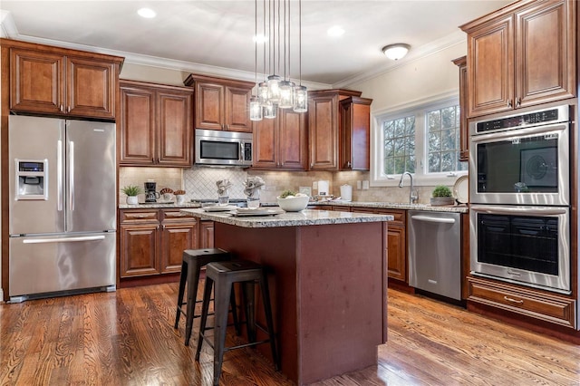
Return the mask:
<path id="1" fill-rule="evenodd" d="M 198 248 L 198 221 L 179 209 L 122 209 L 121 278 L 179 273 L 184 249 Z"/>

